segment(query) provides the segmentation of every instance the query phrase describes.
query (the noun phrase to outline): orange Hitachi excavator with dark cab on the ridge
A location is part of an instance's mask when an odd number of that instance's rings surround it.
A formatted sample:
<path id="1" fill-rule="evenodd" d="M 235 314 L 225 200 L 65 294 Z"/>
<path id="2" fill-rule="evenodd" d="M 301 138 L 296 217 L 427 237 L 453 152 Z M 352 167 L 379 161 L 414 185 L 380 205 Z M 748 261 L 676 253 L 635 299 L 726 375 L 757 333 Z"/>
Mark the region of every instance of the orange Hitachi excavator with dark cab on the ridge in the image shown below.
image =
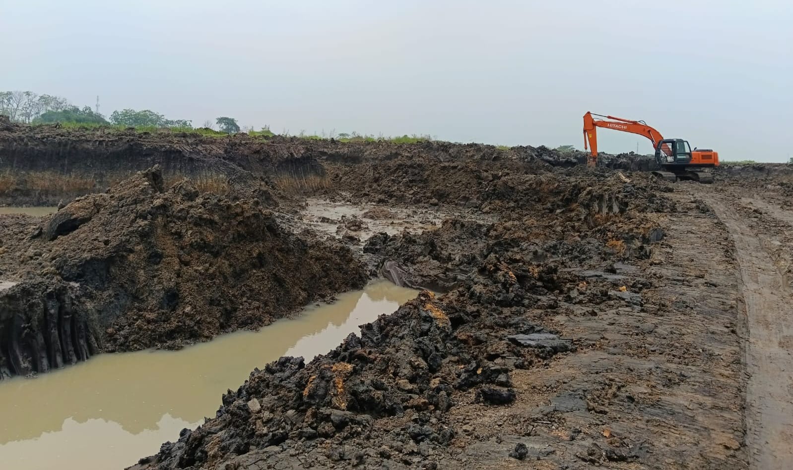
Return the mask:
<path id="1" fill-rule="evenodd" d="M 587 144 L 591 150 L 588 165 L 597 162 L 597 128 L 614 129 L 643 135 L 653 142 L 655 161 L 660 170 L 653 171 L 655 176 L 667 181 L 694 180 L 699 183 L 713 183 L 714 167 L 718 166 L 718 152 L 710 149 L 694 149 L 682 138 L 664 138 L 661 132 L 649 127 L 644 121 L 633 121 L 615 116 L 603 116 L 587 112 L 584 114 L 584 150 Z"/>

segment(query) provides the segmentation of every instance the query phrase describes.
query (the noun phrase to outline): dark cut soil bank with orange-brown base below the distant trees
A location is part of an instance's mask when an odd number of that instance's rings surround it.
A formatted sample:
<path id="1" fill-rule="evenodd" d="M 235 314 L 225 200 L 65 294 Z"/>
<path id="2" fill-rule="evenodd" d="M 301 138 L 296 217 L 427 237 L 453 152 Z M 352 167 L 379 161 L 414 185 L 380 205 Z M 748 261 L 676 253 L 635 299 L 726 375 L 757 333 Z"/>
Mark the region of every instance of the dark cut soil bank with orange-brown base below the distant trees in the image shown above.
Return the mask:
<path id="1" fill-rule="evenodd" d="M 321 165 L 303 147 L 247 135 L 0 126 L 3 205 L 55 206 L 105 191 L 153 165 L 159 165 L 169 185 L 189 177 L 201 190 L 214 192 L 271 186 L 282 177 L 303 181 L 323 176 Z"/>

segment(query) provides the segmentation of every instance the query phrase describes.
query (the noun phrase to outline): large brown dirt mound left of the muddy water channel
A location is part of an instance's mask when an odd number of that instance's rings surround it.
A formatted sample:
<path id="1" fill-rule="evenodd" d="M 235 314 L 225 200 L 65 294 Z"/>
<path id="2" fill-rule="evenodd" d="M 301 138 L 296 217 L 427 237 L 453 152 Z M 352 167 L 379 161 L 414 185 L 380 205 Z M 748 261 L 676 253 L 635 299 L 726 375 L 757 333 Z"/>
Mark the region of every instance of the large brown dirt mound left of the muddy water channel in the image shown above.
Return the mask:
<path id="1" fill-rule="evenodd" d="M 95 354 L 258 328 L 367 279 L 348 248 L 290 232 L 259 199 L 201 193 L 186 180 L 166 190 L 159 169 L 76 199 L 40 226 L 17 222 L 0 232 L 2 249 L 19 254 L 2 265 L 18 282 L 0 292 L 6 374 L 74 362 L 56 351 L 67 341 Z"/>

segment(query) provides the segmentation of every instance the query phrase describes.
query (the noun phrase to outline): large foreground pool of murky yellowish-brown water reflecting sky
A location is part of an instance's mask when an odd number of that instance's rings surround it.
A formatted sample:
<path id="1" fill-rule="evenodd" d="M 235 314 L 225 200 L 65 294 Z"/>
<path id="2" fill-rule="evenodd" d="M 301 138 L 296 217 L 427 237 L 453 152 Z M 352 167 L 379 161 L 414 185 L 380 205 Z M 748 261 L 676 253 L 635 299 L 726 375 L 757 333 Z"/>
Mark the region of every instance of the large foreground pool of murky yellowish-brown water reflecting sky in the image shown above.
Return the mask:
<path id="1" fill-rule="evenodd" d="M 35 379 L 0 382 L 0 468 L 125 468 L 214 416 L 220 396 L 254 367 L 336 347 L 358 325 L 392 313 L 415 290 L 389 282 L 339 295 L 259 332 L 237 332 L 182 351 L 101 354 Z"/>

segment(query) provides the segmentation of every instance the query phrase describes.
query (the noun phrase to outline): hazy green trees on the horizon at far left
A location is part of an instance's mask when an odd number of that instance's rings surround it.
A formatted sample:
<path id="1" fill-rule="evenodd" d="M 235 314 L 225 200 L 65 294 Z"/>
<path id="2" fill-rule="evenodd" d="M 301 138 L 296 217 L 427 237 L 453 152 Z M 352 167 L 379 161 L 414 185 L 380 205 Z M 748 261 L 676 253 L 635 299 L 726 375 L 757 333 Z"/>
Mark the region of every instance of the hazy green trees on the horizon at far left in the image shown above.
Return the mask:
<path id="1" fill-rule="evenodd" d="M 105 116 L 95 112 L 90 106 L 79 108 L 66 98 L 39 95 L 30 91 L 0 91 L 0 115 L 8 116 L 13 122 L 26 124 L 75 123 L 119 127 L 193 128 L 193 121 L 190 119 L 167 119 L 151 109 L 122 109 L 113 111 L 105 119 Z M 221 132 L 239 132 L 236 119 L 221 116 L 215 119 L 215 123 Z M 204 127 L 213 127 L 212 122 L 205 122 Z"/>

